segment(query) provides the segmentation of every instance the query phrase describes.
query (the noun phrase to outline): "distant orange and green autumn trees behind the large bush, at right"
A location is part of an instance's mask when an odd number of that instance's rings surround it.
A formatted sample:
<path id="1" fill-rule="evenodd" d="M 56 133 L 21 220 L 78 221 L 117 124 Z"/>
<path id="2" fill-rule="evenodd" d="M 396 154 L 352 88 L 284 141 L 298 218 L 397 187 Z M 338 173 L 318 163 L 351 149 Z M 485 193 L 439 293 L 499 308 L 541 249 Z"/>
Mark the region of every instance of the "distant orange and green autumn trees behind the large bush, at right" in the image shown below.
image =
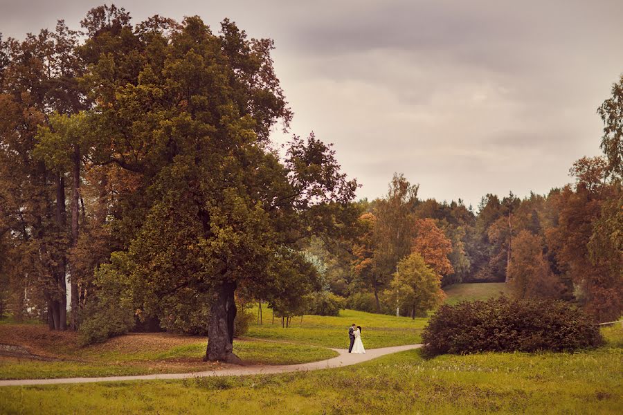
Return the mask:
<path id="1" fill-rule="evenodd" d="M 573 183 L 520 199 L 417 198 L 419 185 L 395 174 L 388 194 L 359 201 L 360 232 L 327 268 L 334 293 L 363 311 L 426 315 L 442 286 L 505 282 L 520 298 L 561 299 L 596 321 L 623 312 L 623 76 L 597 109 L 603 156 L 570 167 Z M 344 250 L 347 252 L 347 250 Z"/>

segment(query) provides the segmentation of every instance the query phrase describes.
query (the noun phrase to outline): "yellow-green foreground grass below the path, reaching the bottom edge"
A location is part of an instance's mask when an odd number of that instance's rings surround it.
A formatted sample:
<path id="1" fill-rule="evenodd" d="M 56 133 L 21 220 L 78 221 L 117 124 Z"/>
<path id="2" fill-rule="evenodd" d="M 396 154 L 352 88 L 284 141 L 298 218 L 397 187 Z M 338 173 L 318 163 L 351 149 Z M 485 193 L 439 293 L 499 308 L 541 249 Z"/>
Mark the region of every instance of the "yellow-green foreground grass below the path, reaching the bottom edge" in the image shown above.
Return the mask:
<path id="1" fill-rule="evenodd" d="M 623 329 L 579 353 L 418 351 L 272 376 L 0 388 L 7 413 L 620 414 Z"/>

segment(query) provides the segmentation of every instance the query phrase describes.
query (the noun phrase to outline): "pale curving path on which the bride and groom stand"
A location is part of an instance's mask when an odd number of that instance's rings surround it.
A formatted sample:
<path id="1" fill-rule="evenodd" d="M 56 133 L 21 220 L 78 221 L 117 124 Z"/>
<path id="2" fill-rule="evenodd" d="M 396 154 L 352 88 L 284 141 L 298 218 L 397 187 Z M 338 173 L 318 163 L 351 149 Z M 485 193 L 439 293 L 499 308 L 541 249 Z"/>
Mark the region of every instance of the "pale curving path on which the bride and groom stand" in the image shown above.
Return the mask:
<path id="1" fill-rule="evenodd" d="M 332 367 L 343 367 L 356 365 L 380 356 L 399 351 L 417 349 L 422 344 L 408 344 L 406 346 L 382 347 L 380 349 L 368 349 L 365 354 L 348 353 L 345 349 L 332 349 L 339 356 L 335 358 L 320 360 L 320 362 L 301 363 L 300 365 L 278 365 L 278 366 L 241 366 L 228 367 L 226 369 L 193 372 L 190 374 L 156 374 L 156 375 L 137 375 L 137 376 L 107 376 L 103 378 L 60 378 L 60 379 L 16 379 L 0 380 L 0 386 L 25 386 L 25 385 L 57 385 L 62 383 L 87 383 L 87 382 L 112 382 L 120 380 L 156 380 L 156 379 L 186 379 L 202 378 L 204 376 L 243 376 L 243 375 L 264 375 L 264 374 L 283 374 L 292 371 L 309 371 L 318 369 L 330 369 Z"/>

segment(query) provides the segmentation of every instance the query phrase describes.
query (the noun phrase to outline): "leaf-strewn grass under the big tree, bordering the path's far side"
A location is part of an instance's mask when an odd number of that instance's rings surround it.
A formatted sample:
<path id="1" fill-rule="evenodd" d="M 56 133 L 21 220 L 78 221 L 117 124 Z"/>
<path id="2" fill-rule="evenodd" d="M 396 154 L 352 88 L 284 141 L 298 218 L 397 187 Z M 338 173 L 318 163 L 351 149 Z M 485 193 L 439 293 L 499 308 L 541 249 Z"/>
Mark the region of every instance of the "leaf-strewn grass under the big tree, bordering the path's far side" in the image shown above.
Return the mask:
<path id="1" fill-rule="evenodd" d="M 51 360 L 0 357 L 0 379 L 179 373 L 223 366 L 203 362 L 206 338 L 195 336 L 131 333 L 79 347 L 76 333 L 50 332 L 44 325 L 6 324 L 0 326 L 0 339 Z M 249 338 L 235 340 L 234 352 L 249 365 L 294 365 L 337 356 L 323 347 Z"/>

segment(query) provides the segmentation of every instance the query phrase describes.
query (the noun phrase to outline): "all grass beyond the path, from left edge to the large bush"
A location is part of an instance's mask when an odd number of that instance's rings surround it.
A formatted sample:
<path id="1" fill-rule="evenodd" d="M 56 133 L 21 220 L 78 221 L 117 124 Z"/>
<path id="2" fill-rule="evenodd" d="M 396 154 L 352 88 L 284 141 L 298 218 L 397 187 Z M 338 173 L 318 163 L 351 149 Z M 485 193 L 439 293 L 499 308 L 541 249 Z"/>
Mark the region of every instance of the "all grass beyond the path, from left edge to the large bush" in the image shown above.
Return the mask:
<path id="1" fill-rule="evenodd" d="M 368 349 L 417 343 L 426 324 L 421 318 L 345 310 L 339 317 L 305 315 L 303 322 L 295 318 L 285 329 L 280 320 L 271 324 L 269 309 L 264 316 L 264 324 L 252 324 L 245 338 L 234 341 L 234 353 L 246 364 L 294 365 L 332 358 L 337 353 L 326 347 L 346 348 L 347 329 L 352 322 L 363 326 L 363 342 Z M 77 333 L 71 331 L 51 332 L 44 324 L 2 324 L 0 338 L 55 360 L 0 358 L 3 379 L 179 373 L 222 366 L 202 361 L 206 348 L 203 337 L 130 333 L 103 344 L 80 347 Z"/>

